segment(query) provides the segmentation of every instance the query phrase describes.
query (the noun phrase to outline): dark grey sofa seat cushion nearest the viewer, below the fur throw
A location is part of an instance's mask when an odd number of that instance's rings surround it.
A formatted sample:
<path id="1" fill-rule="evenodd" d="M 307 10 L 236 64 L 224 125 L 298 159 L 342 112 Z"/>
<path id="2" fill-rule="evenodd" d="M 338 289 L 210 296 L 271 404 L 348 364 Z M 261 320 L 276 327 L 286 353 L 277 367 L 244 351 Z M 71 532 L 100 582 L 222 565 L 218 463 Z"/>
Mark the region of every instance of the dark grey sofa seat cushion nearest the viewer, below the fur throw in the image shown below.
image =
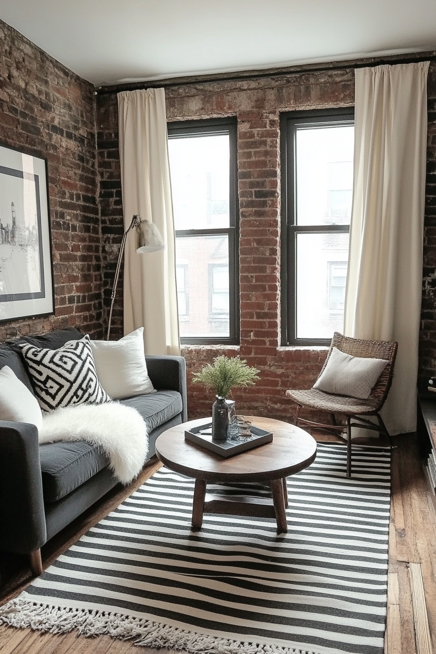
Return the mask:
<path id="1" fill-rule="evenodd" d="M 44 502 L 57 502 L 109 464 L 107 455 L 86 441 L 39 446 Z"/>

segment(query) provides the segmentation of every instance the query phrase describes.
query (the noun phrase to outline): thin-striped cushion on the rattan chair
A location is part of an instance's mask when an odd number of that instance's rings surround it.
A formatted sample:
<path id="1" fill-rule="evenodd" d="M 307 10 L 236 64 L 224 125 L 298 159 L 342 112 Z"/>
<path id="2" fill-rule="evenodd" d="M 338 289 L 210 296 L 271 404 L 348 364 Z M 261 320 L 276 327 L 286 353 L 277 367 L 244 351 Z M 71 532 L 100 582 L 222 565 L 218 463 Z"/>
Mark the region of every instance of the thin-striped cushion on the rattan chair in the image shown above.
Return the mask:
<path id="1" fill-rule="evenodd" d="M 326 393 L 367 400 L 387 364 L 386 359 L 351 356 L 333 347 L 326 368 L 313 387 Z"/>

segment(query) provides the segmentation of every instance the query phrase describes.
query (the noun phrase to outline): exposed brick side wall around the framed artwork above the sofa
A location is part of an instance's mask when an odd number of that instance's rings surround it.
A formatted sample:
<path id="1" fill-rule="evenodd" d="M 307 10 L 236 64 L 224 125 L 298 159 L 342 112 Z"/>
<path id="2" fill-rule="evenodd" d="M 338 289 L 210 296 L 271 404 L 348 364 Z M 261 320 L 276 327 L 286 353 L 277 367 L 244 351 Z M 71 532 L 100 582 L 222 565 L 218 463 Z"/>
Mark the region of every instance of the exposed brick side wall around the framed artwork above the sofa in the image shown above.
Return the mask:
<path id="1" fill-rule="evenodd" d="M 48 160 L 56 307 L 0 323 L 0 341 L 67 325 L 101 336 L 93 86 L 1 21 L 0 141 Z"/>

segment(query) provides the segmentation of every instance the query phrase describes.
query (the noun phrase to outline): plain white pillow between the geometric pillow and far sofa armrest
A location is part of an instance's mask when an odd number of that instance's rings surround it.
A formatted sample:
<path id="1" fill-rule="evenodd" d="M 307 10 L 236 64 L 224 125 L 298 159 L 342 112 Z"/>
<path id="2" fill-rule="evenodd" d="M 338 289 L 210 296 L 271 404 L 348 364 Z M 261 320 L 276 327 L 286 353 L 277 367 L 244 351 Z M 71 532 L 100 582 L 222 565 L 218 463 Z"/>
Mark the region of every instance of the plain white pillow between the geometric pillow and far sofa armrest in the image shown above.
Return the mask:
<path id="1" fill-rule="evenodd" d="M 144 328 L 119 341 L 91 341 L 99 382 L 114 400 L 153 393 L 144 355 Z"/>

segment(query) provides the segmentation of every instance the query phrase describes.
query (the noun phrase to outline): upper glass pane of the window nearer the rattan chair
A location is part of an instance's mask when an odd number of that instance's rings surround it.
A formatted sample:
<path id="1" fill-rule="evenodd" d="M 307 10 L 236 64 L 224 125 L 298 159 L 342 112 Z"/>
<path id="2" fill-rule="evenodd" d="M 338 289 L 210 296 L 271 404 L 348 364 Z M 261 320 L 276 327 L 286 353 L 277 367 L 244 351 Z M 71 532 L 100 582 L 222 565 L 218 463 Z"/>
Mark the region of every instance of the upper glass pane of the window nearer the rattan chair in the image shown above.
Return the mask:
<path id="1" fill-rule="evenodd" d="M 295 131 L 297 225 L 350 223 L 353 126 Z"/>

